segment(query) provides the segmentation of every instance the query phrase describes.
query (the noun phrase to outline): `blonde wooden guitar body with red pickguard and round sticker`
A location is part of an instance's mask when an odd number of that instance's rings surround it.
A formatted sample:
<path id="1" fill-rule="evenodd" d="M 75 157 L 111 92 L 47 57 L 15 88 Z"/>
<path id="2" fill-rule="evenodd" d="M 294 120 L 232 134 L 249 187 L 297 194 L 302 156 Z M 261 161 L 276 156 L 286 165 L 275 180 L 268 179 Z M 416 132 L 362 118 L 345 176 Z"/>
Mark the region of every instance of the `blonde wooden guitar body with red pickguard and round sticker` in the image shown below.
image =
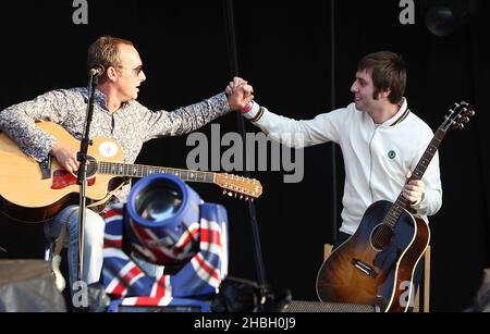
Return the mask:
<path id="1" fill-rule="evenodd" d="M 51 122 L 36 125 L 74 150 L 79 150 L 79 141 L 60 125 Z M 94 145 L 88 147 L 88 154 L 110 162 L 123 160 L 120 145 L 108 138 L 94 139 Z M 0 134 L 0 210 L 14 220 L 42 222 L 51 219 L 64 206 L 78 202 L 76 175 L 66 173 L 53 158 L 50 175 L 44 178 L 40 164 L 24 154 L 4 133 Z M 88 202 L 102 200 L 117 183 L 121 183 L 121 177 L 105 174 L 91 176 L 87 186 Z"/>

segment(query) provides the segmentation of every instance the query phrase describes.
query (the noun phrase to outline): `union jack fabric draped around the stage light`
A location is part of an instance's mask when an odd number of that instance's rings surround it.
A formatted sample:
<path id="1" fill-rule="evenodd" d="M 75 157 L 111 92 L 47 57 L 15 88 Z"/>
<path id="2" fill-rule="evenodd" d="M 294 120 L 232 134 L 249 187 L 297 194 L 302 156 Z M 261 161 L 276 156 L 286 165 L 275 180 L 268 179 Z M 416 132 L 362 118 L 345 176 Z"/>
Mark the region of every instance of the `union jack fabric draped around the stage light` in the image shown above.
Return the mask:
<path id="1" fill-rule="evenodd" d="M 122 299 L 120 305 L 130 306 L 175 306 L 187 302 L 186 299 L 211 298 L 218 293 L 228 275 L 228 217 L 222 206 L 199 206 L 199 223 L 191 224 L 182 233 L 171 252 L 164 250 L 159 255 L 169 260 L 185 260 L 185 264 L 174 274 L 157 277 L 147 275 L 133 261 L 134 249 L 128 249 L 123 238 L 124 224 L 130 221 L 124 214 L 123 205 L 114 205 L 106 213 L 102 283 L 112 299 Z M 198 249 L 185 259 L 194 243 Z M 144 247 L 137 251 L 147 255 Z M 155 259 L 154 253 L 148 253 L 148 258 Z"/>

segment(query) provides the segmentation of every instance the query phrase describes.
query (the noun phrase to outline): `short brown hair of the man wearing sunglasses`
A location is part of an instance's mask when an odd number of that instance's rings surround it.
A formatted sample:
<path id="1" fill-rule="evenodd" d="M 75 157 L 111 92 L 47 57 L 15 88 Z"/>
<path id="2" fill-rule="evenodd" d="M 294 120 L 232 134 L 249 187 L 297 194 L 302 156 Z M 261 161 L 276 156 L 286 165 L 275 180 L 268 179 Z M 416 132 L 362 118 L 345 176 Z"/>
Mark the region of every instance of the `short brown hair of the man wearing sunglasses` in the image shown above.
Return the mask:
<path id="1" fill-rule="evenodd" d="M 119 45 L 133 46 L 133 42 L 112 36 L 101 36 L 97 38 L 97 40 L 88 48 L 87 69 L 90 70 L 96 65 L 102 65 L 103 69 L 121 65 Z"/>

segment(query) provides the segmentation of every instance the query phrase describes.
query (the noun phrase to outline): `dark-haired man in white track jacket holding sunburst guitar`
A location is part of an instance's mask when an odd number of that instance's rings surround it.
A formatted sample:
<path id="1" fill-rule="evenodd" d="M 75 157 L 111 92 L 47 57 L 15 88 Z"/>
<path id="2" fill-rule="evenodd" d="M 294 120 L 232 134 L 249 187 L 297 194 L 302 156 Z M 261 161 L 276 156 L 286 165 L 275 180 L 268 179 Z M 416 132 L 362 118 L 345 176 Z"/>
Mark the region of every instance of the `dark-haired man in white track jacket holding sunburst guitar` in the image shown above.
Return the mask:
<path id="1" fill-rule="evenodd" d="M 246 82 L 235 78 L 226 92 Z M 404 98 L 406 69 L 401 55 L 381 51 L 366 55 L 357 66 L 351 91 L 354 103 L 322 113 L 314 120 L 280 116 L 252 102 L 243 115 L 273 139 L 291 147 L 334 141 L 345 164 L 342 226 L 335 246 L 357 230 L 375 201 L 394 201 L 403 189 L 416 215 L 427 222 L 441 208 L 442 187 L 436 153 L 420 181 L 407 178 L 433 137 Z M 252 94 L 252 92 L 250 92 Z M 301 140 L 296 140 L 301 139 Z"/>

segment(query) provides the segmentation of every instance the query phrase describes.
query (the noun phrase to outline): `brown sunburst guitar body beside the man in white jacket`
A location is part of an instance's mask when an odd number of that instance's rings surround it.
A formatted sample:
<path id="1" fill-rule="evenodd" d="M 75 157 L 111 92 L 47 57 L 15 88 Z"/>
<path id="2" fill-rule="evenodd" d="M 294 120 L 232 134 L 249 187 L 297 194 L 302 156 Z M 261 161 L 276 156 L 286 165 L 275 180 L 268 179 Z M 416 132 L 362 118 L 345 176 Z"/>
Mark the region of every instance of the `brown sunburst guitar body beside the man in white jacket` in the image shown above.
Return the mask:
<path id="1" fill-rule="evenodd" d="M 415 268 L 429 244 L 430 231 L 424 220 L 406 210 L 393 230 L 379 230 L 392 206 L 389 201 L 372 203 L 356 233 L 321 265 L 317 276 L 321 301 L 378 305 L 387 312 L 408 309 Z M 373 240 L 380 233 L 388 240 L 382 247 Z"/>

